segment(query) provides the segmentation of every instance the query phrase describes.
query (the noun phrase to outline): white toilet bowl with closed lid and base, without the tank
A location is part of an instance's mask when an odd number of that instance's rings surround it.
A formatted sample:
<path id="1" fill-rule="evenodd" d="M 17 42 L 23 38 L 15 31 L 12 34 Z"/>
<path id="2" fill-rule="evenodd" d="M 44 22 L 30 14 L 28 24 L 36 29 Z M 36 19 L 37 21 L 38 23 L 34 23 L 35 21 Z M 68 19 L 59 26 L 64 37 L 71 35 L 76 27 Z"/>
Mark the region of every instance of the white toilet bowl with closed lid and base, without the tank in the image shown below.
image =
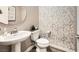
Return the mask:
<path id="1" fill-rule="evenodd" d="M 47 51 L 47 47 L 49 46 L 49 41 L 47 39 L 44 38 L 40 38 L 38 40 L 36 40 L 37 42 L 37 52 L 46 52 Z"/>

